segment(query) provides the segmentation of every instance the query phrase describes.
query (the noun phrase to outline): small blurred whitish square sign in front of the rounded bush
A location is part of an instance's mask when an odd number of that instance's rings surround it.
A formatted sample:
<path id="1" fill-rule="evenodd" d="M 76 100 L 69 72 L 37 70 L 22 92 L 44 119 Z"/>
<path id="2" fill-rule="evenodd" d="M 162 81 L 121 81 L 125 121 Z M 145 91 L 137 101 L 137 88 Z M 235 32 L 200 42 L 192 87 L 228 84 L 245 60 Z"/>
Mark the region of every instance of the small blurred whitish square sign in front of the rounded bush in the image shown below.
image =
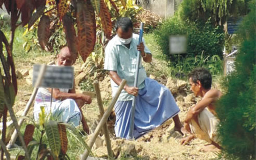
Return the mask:
<path id="1" fill-rule="evenodd" d="M 182 54 L 187 52 L 187 36 L 172 35 L 169 37 L 170 54 Z"/>

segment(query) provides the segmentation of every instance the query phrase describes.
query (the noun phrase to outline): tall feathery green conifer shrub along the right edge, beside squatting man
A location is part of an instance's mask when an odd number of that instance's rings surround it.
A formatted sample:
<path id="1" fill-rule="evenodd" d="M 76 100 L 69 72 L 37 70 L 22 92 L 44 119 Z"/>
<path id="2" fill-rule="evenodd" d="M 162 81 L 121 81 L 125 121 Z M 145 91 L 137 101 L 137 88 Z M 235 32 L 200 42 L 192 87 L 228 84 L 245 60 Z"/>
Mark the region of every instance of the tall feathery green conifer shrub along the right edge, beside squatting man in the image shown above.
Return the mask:
<path id="1" fill-rule="evenodd" d="M 255 159 L 255 2 L 238 31 L 242 39 L 236 58 L 236 71 L 223 82 L 226 94 L 217 105 L 219 136 L 227 156 Z"/>

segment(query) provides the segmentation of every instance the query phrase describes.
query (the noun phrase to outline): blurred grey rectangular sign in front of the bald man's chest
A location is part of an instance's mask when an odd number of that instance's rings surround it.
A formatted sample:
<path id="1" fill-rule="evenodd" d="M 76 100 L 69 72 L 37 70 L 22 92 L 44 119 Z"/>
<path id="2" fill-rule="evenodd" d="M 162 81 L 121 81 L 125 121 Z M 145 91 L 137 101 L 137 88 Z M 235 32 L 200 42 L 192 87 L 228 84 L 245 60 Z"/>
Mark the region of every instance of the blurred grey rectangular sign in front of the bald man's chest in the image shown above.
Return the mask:
<path id="1" fill-rule="evenodd" d="M 33 66 L 33 87 L 36 83 L 41 65 Z M 47 66 L 39 87 L 72 89 L 74 83 L 74 67 Z"/>

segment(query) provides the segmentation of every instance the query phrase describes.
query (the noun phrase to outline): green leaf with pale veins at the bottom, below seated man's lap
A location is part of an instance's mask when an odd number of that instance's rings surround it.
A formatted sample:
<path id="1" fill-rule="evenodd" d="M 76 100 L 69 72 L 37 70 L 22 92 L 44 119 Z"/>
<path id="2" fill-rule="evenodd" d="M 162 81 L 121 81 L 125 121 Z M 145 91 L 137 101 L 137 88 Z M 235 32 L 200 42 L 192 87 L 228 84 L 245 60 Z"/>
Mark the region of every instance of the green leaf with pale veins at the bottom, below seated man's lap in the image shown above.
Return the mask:
<path id="1" fill-rule="evenodd" d="M 58 157 L 61 149 L 58 124 L 56 121 L 50 120 L 44 123 L 44 128 L 51 151 L 55 157 Z"/>

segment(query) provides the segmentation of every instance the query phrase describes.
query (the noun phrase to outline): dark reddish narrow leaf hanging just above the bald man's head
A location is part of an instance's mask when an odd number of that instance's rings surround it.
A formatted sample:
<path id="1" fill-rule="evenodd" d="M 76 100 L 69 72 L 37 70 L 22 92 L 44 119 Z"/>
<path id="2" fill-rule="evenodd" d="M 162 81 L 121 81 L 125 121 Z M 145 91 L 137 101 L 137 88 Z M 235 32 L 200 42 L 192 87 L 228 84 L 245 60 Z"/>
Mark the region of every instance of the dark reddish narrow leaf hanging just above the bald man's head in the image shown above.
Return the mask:
<path id="1" fill-rule="evenodd" d="M 67 14 L 65 14 L 65 16 L 63 17 L 62 23 L 64 26 L 64 31 L 65 31 L 68 47 L 69 47 L 69 50 L 70 50 L 72 57 L 74 59 L 74 62 L 75 62 L 75 60 L 77 58 L 77 54 L 78 54 L 77 37 L 76 37 L 76 33 L 75 33 L 75 28 L 73 26 L 71 19 L 69 18 L 69 16 Z"/>

